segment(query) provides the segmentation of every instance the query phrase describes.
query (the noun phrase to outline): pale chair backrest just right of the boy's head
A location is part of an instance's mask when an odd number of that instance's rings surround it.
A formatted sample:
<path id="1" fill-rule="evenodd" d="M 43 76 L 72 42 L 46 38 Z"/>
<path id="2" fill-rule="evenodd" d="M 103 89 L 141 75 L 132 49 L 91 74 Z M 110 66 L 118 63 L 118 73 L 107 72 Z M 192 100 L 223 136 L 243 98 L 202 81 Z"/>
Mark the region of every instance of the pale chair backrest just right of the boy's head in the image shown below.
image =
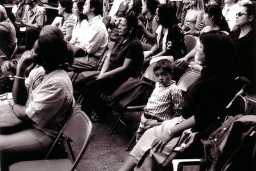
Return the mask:
<path id="1" fill-rule="evenodd" d="M 195 80 L 200 77 L 200 72 L 198 71 L 188 71 L 182 75 L 177 86 L 182 91 L 187 91 L 188 87 L 195 82 Z"/>

